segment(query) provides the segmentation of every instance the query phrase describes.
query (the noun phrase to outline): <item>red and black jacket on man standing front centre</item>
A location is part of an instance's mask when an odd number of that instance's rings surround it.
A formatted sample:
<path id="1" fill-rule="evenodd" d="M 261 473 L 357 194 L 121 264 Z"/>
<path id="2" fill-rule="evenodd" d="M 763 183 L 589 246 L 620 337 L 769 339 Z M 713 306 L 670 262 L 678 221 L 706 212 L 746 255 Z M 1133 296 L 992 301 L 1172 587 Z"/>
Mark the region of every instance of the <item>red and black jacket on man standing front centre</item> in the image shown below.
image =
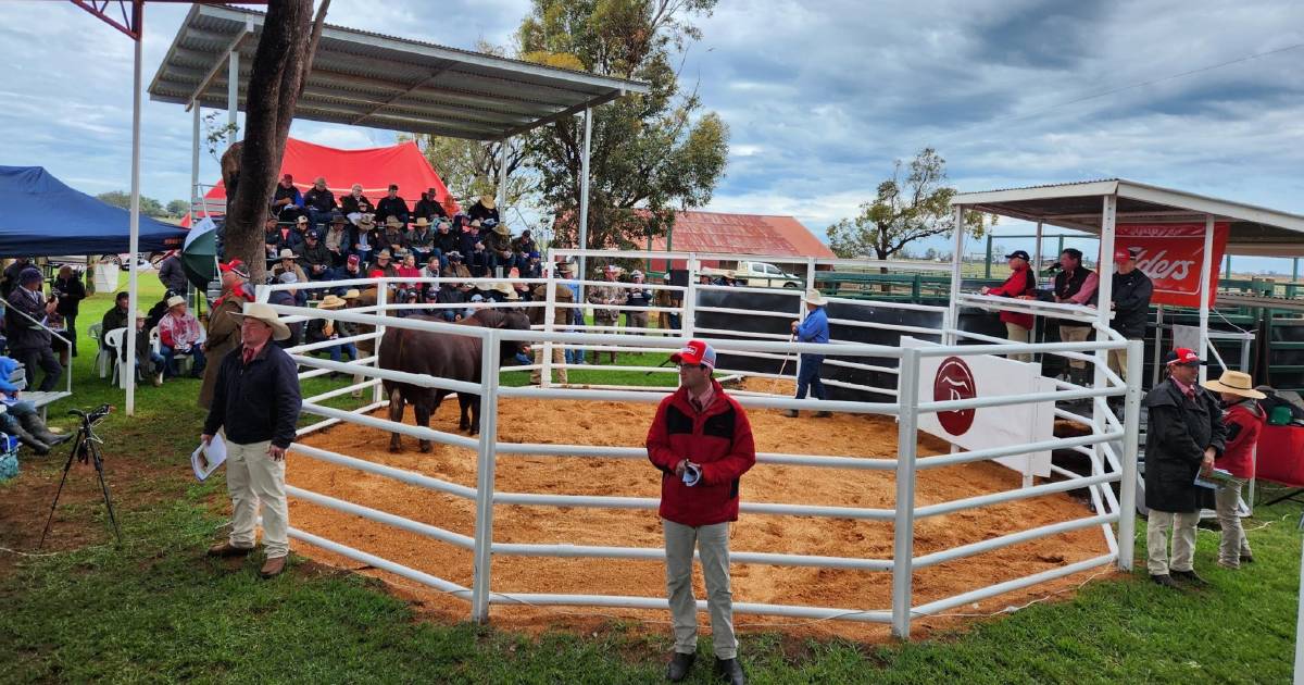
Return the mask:
<path id="1" fill-rule="evenodd" d="M 661 401 L 648 429 L 648 459 L 661 470 L 661 518 L 683 526 L 738 521 L 738 479 L 756 463 L 751 424 L 720 384 L 707 411 L 698 414 L 679 388 Z M 702 464 L 702 480 L 687 487 L 674 475 L 681 459 Z"/>

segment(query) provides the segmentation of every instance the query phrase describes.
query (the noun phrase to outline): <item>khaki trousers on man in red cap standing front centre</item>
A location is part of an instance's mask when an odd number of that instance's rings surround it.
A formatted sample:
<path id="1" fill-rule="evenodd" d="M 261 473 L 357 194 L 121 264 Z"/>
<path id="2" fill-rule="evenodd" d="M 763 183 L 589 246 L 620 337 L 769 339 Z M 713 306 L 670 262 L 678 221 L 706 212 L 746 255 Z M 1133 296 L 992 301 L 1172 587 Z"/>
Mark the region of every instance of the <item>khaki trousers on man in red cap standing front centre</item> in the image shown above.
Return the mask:
<path id="1" fill-rule="evenodd" d="M 698 651 L 698 600 L 692 596 L 692 548 L 702 555 L 707 608 L 717 659 L 738 656 L 733 632 L 733 592 L 729 590 L 729 523 L 683 526 L 661 519 L 665 531 L 665 594 L 670 600 L 674 651 Z"/>

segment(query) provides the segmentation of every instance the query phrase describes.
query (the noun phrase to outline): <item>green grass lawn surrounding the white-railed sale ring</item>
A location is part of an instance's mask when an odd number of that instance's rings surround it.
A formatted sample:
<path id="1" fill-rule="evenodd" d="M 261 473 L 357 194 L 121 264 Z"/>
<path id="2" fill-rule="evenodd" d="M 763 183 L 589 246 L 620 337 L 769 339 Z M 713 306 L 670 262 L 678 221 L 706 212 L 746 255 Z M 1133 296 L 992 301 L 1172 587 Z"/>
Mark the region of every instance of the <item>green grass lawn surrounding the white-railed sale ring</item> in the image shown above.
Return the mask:
<path id="1" fill-rule="evenodd" d="M 155 290 L 142 301 L 158 295 Z M 82 329 L 99 320 L 110 297 L 83 303 Z M 93 348 L 85 338 L 82 346 Z M 652 359 L 649 365 L 659 360 Z M 63 416 L 67 407 L 121 404 L 120 391 L 93 377 L 91 361 L 86 354 L 77 359 L 74 398 L 51 410 L 60 425 L 72 425 Z M 575 373 L 587 382 L 657 378 Z M 344 382 L 314 380 L 305 384 L 305 395 Z M 107 544 L 94 472 L 86 467 L 69 476 L 47 544 L 53 552 L 39 553 L 44 556 L 30 555 L 63 458 L 25 461 L 18 479 L 0 484 L 0 681 L 661 678 L 669 639 L 649 638 L 631 624 L 542 637 L 433 624 L 357 575 L 299 561 L 291 573 L 262 582 L 258 558 L 206 558 L 203 549 L 219 538 L 230 505 L 220 472 L 206 484 L 188 476 L 186 455 L 202 420 L 197 391 L 192 380 L 142 388 L 134 418 L 119 412 L 103 424 L 126 539 L 121 549 Z M 1196 568 L 1213 582 L 1206 591 L 1166 591 L 1141 570 L 910 645 L 747 633 L 742 659 L 754 682 L 1288 682 L 1300 513 L 1296 504 L 1261 508 L 1247 522 L 1256 562 L 1240 571 L 1215 566 L 1218 536 L 1202 531 Z M 1144 522 L 1138 528 L 1144 538 Z M 691 682 L 711 681 L 709 652 L 707 638 Z"/>

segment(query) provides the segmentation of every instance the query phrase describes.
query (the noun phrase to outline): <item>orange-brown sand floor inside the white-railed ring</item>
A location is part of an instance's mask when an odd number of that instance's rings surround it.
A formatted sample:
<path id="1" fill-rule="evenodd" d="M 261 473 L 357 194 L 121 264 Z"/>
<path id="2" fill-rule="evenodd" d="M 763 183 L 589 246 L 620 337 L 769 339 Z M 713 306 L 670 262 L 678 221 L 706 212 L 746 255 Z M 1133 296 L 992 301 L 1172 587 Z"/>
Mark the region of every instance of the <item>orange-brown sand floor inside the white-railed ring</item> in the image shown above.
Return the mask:
<path id="1" fill-rule="evenodd" d="M 587 444 L 642 446 L 655 404 L 614 402 L 561 402 L 505 399 L 499 403 L 499 440 L 512 442 Z M 383 416 L 382 412 L 377 412 Z M 788 419 L 778 411 L 750 412 L 756 449 L 799 454 L 874 457 L 895 459 L 896 424 L 889 418 L 836 415 L 832 419 Z M 406 421 L 412 423 L 412 411 Z M 445 403 L 433 427 L 456 431 L 456 403 Z M 471 450 L 434 445 L 421 454 L 416 441 L 404 438 L 404 451 L 387 451 L 389 433 L 356 425 L 336 425 L 303 441 L 342 454 L 406 468 L 475 487 L 476 455 Z M 947 445 L 921 436 L 919 454 L 940 454 Z M 359 472 L 292 454 L 287 468 L 292 485 L 339 497 L 415 521 L 473 535 L 475 502 L 407 485 L 382 476 Z M 1020 476 L 995 463 L 973 463 L 921 471 L 917 483 L 919 505 L 1017 488 Z M 657 497 L 660 472 L 645 461 L 498 457 L 499 492 L 553 495 L 610 495 Z M 892 508 L 892 471 L 853 471 L 758 464 L 742 479 L 743 501 L 811 505 Z M 472 555 L 456 547 L 370 521 L 336 513 L 291 498 L 291 525 L 379 555 L 385 558 L 471 586 Z M 1045 496 L 981 510 L 917 521 L 915 553 L 927 553 L 973 543 L 1035 526 L 1089 515 L 1067 495 Z M 661 525 L 652 510 L 497 506 L 494 539 L 510 543 L 574 543 L 600 545 L 660 547 Z M 327 564 L 356 569 L 390 581 L 400 595 L 446 620 L 466 620 L 469 607 L 460 600 L 357 562 L 295 543 L 296 549 Z M 785 552 L 845 557 L 891 558 L 889 522 L 838 521 L 801 517 L 742 514 L 730 540 L 733 551 Z M 956 595 L 981 586 L 1054 569 L 1106 553 L 1098 527 L 1045 538 L 1000 551 L 941 564 L 914 573 L 914 603 Z M 1098 569 L 1099 571 L 1099 569 Z M 1108 569 L 1104 569 L 1108 573 Z M 1093 571 L 1094 573 L 1094 571 Z M 1077 574 L 1025 591 L 1001 595 L 953 612 L 991 613 L 1051 594 L 1063 594 L 1091 573 Z M 601 558 L 549 558 L 496 556 L 496 592 L 585 592 L 664 596 L 664 566 L 660 561 Z M 698 598 L 703 598 L 700 571 L 695 573 Z M 733 565 L 735 601 L 807 604 L 819 607 L 887 609 L 891 607 L 891 573 L 788 568 L 754 564 Z M 665 612 L 587 607 L 494 605 L 498 626 L 531 629 L 589 625 L 595 617 L 621 616 L 648 621 L 668 620 Z M 786 626 L 785 630 L 852 639 L 885 637 L 887 626 L 849 621 L 803 621 L 739 615 L 741 626 Z M 923 618 L 915 625 L 927 630 L 955 625 L 958 618 Z M 705 624 L 705 616 L 702 617 Z"/>

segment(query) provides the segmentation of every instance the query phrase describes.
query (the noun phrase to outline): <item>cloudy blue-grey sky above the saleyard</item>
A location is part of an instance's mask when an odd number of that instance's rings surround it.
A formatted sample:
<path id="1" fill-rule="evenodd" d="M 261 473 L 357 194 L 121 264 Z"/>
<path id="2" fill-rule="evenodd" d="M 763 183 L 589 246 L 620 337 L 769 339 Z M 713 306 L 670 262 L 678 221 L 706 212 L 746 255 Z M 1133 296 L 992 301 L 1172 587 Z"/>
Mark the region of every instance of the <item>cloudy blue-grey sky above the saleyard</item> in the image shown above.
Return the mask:
<path id="1" fill-rule="evenodd" d="M 185 10 L 147 7 L 146 84 Z M 473 47 L 507 43 L 527 10 L 334 0 L 329 20 Z M 69 3 L 5 13 L 0 164 L 125 189 L 130 42 Z M 682 78 L 732 129 L 708 209 L 792 214 L 823 235 L 893 159 L 934 146 L 961 190 L 1123 176 L 1304 213 L 1304 3 L 725 0 L 698 23 Z M 188 197 L 189 115 L 146 102 L 143 116 L 145 194 Z M 343 147 L 394 138 L 313 123 L 292 133 Z M 201 176 L 216 176 L 207 155 Z"/>

